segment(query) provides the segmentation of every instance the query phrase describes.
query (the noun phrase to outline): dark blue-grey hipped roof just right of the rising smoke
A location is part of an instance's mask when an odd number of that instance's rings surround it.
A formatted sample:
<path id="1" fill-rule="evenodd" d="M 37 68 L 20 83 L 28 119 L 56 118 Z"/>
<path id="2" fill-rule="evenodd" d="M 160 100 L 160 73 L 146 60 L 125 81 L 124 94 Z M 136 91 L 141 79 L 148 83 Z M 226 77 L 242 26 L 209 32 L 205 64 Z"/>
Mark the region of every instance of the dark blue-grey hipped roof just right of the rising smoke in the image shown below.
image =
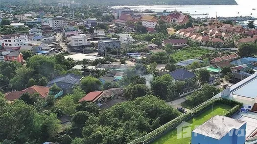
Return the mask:
<path id="1" fill-rule="evenodd" d="M 180 80 L 180 81 L 184 81 L 186 79 L 195 77 L 194 73 L 192 73 L 186 69 L 183 69 L 183 68 L 180 68 L 173 72 L 170 72 L 169 75 L 171 75 L 175 80 Z"/>

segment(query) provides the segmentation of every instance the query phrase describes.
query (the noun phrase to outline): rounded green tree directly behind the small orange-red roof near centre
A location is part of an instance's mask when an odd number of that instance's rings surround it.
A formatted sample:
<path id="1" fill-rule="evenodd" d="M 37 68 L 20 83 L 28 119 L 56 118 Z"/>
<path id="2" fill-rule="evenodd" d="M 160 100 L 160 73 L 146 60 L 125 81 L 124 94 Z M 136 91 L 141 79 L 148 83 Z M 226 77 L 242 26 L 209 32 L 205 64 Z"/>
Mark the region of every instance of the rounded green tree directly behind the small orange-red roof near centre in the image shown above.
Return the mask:
<path id="1" fill-rule="evenodd" d="M 102 83 L 98 79 L 90 76 L 85 77 L 81 80 L 81 88 L 86 93 L 100 89 L 101 85 Z"/>

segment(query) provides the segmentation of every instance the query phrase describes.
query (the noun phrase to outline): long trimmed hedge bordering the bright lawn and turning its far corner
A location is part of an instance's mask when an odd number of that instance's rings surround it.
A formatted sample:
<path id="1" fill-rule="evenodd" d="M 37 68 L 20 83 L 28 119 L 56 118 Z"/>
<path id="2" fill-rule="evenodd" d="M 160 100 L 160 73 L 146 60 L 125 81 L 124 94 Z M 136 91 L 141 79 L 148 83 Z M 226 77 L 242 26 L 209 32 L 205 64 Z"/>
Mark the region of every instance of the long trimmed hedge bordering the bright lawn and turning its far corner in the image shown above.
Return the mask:
<path id="1" fill-rule="evenodd" d="M 184 121 L 187 121 L 188 119 L 190 119 L 190 118 L 196 116 L 197 114 L 203 112 L 204 110 L 206 110 L 206 108 L 210 107 L 212 105 L 212 103 L 215 103 L 215 104 L 220 103 L 220 104 L 226 104 L 226 105 L 232 106 L 233 108 L 225 115 L 227 117 L 232 116 L 243 105 L 242 103 L 239 103 L 239 102 L 236 102 L 236 101 L 233 101 L 233 100 L 226 100 L 226 99 L 222 99 L 222 98 L 213 99 L 211 101 L 208 101 L 207 103 L 203 103 L 202 105 L 198 106 L 195 109 L 192 109 L 190 112 L 187 112 L 187 113 L 179 116 L 178 118 L 164 124 L 163 126 L 155 129 L 154 131 L 146 134 L 145 136 L 132 141 L 129 144 L 142 144 L 142 142 L 144 142 L 144 144 L 147 144 L 148 142 L 150 142 L 153 139 L 155 139 L 156 137 L 162 135 L 166 131 L 169 131 L 170 129 L 175 128 L 180 123 L 182 123 Z"/>

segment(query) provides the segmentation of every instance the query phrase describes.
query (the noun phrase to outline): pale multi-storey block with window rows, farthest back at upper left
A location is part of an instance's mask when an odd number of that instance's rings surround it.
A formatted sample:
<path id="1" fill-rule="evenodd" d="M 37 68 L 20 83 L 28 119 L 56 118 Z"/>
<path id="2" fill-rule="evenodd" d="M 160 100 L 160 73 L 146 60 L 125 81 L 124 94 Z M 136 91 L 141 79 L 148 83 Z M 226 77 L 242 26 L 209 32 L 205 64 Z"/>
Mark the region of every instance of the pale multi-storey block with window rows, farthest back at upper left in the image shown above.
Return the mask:
<path id="1" fill-rule="evenodd" d="M 68 20 L 61 16 L 53 18 L 52 20 L 49 21 L 49 26 L 52 27 L 53 29 L 62 29 L 67 25 L 68 25 Z"/>

